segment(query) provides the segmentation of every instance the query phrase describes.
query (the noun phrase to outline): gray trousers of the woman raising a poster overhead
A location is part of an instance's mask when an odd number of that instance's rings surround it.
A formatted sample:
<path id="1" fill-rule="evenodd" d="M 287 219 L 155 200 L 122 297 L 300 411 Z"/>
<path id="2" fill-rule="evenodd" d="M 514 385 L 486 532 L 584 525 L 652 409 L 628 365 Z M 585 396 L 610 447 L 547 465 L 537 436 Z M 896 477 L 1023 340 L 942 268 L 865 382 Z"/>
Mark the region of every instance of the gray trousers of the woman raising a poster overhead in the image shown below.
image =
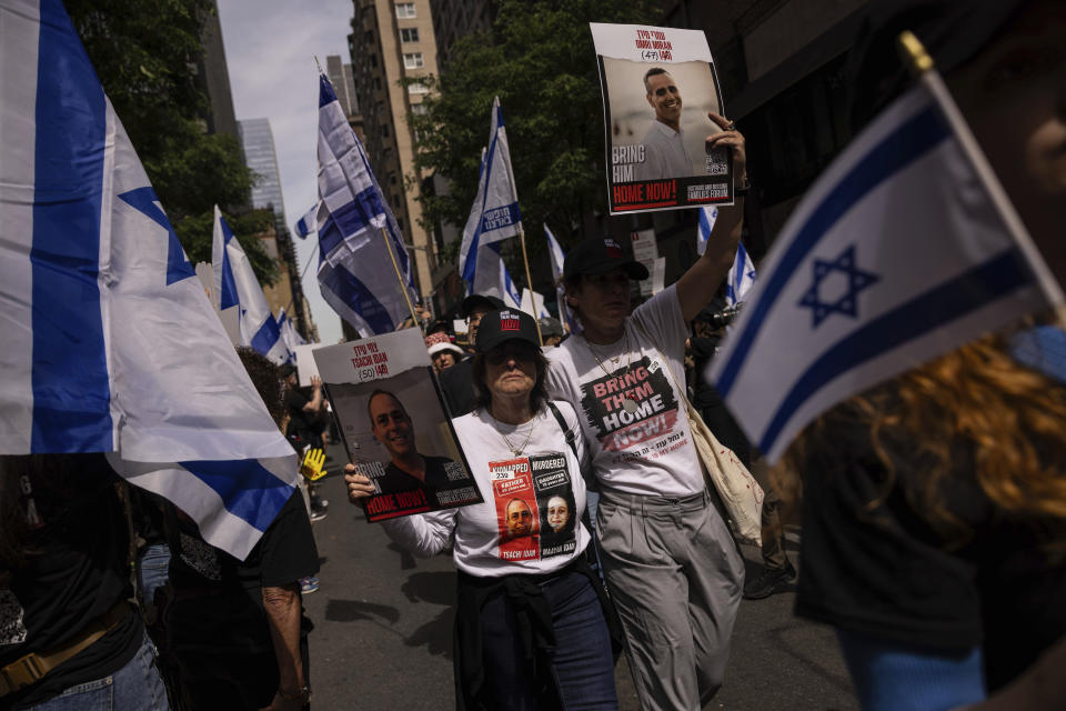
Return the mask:
<path id="1" fill-rule="evenodd" d="M 603 490 L 596 538 L 641 707 L 698 711 L 722 685 L 744 588 L 725 522 L 706 492 Z"/>

